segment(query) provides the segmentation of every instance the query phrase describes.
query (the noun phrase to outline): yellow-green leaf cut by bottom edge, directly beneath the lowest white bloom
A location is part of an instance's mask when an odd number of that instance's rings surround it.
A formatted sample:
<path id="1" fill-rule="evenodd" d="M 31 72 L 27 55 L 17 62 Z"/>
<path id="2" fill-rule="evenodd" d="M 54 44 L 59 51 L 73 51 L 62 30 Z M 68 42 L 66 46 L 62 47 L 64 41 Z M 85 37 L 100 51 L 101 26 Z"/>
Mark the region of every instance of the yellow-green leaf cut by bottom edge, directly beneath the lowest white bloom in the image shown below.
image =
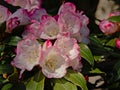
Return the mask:
<path id="1" fill-rule="evenodd" d="M 53 90 L 77 90 L 77 86 L 65 79 L 55 79 Z"/>

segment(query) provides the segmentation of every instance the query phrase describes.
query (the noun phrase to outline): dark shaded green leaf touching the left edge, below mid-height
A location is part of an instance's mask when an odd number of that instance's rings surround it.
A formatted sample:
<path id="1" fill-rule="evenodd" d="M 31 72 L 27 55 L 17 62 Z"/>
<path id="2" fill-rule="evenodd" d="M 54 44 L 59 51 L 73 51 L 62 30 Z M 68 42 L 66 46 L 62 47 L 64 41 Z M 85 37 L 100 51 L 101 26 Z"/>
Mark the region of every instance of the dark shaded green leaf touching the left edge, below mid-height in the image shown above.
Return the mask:
<path id="1" fill-rule="evenodd" d="M 13 72 L 13 67 L 9 64 L 1 64 L 0 65 L 0 74 L 4 73 L 12 73 Z"/>

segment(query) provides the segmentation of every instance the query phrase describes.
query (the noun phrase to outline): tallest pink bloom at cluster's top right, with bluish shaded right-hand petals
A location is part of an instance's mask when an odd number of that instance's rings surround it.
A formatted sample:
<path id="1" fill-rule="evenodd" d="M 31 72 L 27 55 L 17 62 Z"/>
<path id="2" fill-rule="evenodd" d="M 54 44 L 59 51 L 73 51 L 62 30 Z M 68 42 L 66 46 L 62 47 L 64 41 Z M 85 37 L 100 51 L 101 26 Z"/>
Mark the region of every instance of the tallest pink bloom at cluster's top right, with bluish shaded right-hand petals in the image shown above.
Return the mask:
<path id="1" fill-rule="evenodd" d="M 58 14 L 61 32 L 70 32 L 70 36 L 76 38 L 78 42 L 89 43 L 89 29 L 87 27 L 89 19 L 82 11 L 76 12 L 75 5 L 67 2 L 61 5 Z"/>

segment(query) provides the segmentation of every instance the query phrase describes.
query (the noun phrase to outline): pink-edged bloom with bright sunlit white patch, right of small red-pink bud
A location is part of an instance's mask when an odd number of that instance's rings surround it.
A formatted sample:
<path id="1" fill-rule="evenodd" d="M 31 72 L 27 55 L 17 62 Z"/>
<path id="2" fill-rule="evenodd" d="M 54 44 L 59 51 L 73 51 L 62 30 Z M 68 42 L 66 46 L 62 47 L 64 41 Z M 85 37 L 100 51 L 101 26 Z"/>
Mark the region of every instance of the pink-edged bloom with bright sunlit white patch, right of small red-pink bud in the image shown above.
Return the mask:
<path id="1" fill-rule="evenodd" d="M 79 66 L 80 58 L 80 47 L 77 44 L 77 40 L 70 38 L 69 33 L 60 35 L 55 41 L 54 46 L 56 46 L 61 53 L 69 57 L 70 66 L 73 69 L 77 69 Z"/>

